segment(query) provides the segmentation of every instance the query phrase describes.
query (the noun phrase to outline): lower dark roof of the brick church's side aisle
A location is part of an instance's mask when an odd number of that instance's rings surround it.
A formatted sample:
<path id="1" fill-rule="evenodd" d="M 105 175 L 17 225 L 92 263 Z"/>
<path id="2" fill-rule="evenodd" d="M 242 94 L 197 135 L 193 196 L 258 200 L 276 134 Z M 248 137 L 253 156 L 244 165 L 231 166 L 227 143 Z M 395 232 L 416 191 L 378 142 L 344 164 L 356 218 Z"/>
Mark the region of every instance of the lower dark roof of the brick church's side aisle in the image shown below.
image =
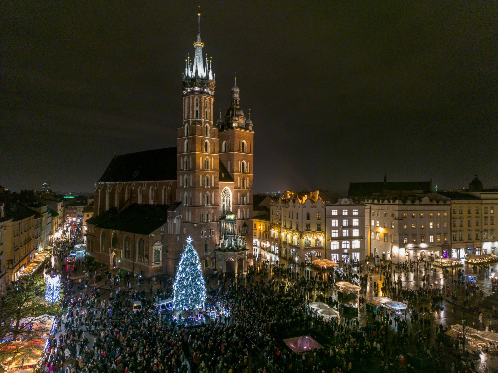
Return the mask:
<path id="1" fill-rule="evenodd" d="M 164 225 L 167 220 L 167 205 L 134 203 L 98 224 L 98 227 L 129 233 L 149 234 Z"/>

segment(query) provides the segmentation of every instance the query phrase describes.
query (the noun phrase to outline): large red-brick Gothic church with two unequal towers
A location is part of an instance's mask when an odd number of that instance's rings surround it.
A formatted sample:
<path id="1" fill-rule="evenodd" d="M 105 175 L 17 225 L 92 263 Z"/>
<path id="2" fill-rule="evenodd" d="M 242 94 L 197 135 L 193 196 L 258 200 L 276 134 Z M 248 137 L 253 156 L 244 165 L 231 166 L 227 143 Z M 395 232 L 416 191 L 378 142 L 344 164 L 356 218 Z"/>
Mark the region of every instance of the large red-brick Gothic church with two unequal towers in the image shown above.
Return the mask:
<path id="1" fill-rule="evenodd" d="M 87 220 L 87 250 L 99 262 L 116 263 L 116 267 L 128 271 L 139 269 L 146 276 L 174 275 L 185 239 L 191 236 L 203 271 L 245 271 L 250 263 L 252 121 L 240 107 L 240 88 L 235 84 L 230 108 L 224 118 L 220 113 L 214 122 L 215 74 L 211 61 L 202 57 L 200 14 L 194 47 L 194 58 L 186 58 L 182 73 L 183 107 L 182 121 L 176 129 L 177 146 L 115 156 L 95 185 L 94 217 Z M 146 205 L 152 207 L 140 207 Z M 141 214 L 142 221 L 147 221 L 147 211 L 160 221 L 145 224 L 140 230 L 126 228 L 130 226 L 119 221 L 129 208 Z M 112 217 L 104 221 L 99 218 L 103 213 Z M 235 221 L 230 226 L 234 229 L 228 234 L 225 220 L 232 213 Z M 101 234 L 105 231 L 106 237 L 111 237 L 113 229 L 116 245 L 102 251 Z M 127 258 L 122 257 L 124 237 L 131 241 Z M 226 245 L 231 238 L 237 245 Z M 140 239 L 141 249 L 137 246 Z M 116 257 L 117 261 L 112 259 Z"/>

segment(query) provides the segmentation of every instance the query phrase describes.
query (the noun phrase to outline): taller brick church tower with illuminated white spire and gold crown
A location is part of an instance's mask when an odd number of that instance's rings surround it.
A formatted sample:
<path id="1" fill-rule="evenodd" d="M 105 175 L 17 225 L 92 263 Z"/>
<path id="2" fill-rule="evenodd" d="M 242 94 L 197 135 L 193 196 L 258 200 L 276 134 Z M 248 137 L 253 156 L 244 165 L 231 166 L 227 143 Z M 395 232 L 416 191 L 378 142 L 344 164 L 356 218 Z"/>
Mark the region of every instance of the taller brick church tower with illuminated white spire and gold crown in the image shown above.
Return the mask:
<path id="1" fill-rule="evenodd" d="M 181 202 L 182 234 L 194 238 L 204 268 L 211 266 L 219 230 L 218 128 L 213 125 L 215 76 L 203 60 L 200 16 L 195 55 L 185 59 L 182 74 L 182 125 L 177 133 L 176 200 Z M 179 243 L 179 245 L 184 242 Z"/>

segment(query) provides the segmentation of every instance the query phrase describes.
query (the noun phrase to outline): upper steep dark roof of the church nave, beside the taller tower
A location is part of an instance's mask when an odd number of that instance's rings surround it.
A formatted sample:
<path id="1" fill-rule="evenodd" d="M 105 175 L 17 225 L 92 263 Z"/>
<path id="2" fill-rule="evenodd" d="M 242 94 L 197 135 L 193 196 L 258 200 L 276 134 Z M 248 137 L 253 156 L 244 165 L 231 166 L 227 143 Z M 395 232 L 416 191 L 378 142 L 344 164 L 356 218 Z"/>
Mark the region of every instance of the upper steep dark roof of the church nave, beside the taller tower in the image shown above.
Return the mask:
<path id="1" fill-rule="evenodd" d="M 115 156 L 99 183 L 176 180 L 176 146 Z"/>

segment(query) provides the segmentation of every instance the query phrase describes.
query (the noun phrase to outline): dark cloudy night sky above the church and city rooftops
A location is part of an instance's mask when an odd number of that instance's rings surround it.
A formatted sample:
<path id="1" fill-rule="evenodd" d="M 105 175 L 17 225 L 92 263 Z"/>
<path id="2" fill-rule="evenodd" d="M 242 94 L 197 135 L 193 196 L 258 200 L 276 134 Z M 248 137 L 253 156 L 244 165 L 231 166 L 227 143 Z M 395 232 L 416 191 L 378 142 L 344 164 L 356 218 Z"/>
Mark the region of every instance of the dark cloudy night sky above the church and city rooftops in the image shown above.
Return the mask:
<path id="1" fill-rule="evenodd" d="M 197 2 L 0 9 L 1 185 L 91 191 L 115 151 L 176 146 Z M 251 109 L 254 192 L 384 173 L 498 185 L 496 2 L 203 1 L 201 13 L 216 112 L 236 72 Z"/>

